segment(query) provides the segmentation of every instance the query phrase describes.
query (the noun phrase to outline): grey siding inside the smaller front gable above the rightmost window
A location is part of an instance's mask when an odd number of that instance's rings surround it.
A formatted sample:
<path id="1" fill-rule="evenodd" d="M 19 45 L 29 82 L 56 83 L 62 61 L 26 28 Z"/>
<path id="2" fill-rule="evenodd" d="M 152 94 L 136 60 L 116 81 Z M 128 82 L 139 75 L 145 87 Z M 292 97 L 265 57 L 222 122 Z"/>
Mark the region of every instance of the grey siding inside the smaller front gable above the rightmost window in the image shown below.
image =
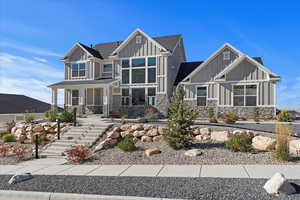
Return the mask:
<path id="1" fill-rule="evenodd" d="M 227 81 L 266 79 L 267 74 L 248 60 L 242 61 L 238 66 L 226 74 Z"/>

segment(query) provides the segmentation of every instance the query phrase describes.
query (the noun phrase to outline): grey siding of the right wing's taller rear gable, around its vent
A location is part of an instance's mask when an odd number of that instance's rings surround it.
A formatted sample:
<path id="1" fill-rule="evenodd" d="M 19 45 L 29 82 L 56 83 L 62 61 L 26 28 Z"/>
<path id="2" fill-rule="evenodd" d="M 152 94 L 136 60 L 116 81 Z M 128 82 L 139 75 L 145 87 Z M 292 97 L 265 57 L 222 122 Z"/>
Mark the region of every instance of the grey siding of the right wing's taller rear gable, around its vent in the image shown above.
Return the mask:
<path id="1" fill-rule="evenodd" d="M 223 59 L 223 52 L 230 51 L 230 60 Z M 191 82 L 210 82 L 225 67 L 232 63 L 238 55 L 229 48 L 225 48 L 214 59 L 212 59 L 203 69 L 191 77 Z"/>

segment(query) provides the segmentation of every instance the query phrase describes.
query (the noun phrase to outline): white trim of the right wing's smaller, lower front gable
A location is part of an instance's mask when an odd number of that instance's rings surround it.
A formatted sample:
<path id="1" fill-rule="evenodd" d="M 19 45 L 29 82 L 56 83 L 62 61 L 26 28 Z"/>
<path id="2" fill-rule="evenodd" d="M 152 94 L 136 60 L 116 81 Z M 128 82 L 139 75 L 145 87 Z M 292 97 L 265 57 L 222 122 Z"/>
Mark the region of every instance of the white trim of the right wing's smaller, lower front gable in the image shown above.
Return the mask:
<path id="1" fill-rule="evenodd" d="M 241 57 L 237 58 L 235 61 L 233 61 L 230 65 L 228 65 L 223 71 L 221 71 L 219 74 L 217 74 L 215 76 L 215 80 L 218 78 L 221 78 L 223 75 L 227 74 L 228 72 L 230 72 L 231 70 L 233 70 L 235 67 L 237 67 L 241 62 L 243 62 L 244 60 L 247 60 L 249 62 L 251 62 L 252 64 L 256 65 L 258 68 L 260 68 L 262 71 L 264 71 L 265 73 L 272 75 L 276 78 L 280 78 L 280 76 L 278 76 L 277 74 L 275 74 L 274 72 L 270 71 L 268 68 L 266 68 L 265 66 L 263 66 L 260 62 L 258 62 L 258 59 L 254 59 L 249 57 L 248 55 L 244 54 Z"/>

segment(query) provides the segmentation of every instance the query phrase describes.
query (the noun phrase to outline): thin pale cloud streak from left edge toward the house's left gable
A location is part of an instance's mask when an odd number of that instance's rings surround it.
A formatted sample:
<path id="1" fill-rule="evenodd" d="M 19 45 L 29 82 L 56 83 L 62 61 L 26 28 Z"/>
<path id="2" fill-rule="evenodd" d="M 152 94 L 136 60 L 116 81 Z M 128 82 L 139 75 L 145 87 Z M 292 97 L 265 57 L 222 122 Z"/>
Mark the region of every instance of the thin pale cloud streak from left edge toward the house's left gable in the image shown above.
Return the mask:
<path id="1" fill-rule="evenodd" d="M 62 57 L 63 56 L 62 54 L 55 53 L 55 52 L 47 50 L 47 49 L 28 47 L 28 46 L 24 46 L 21 44 L 17 44 L 15 42 L 2 41 L 2 42 L 0 42 L 0 46 L 3 48 L 11 48 L 11 49 L 15 49 L 15 50 L 19 50 L 19 51 L 23 51 L 23 52 L 27 52 L 27 53 L 32 53 L 32 54 L 36 54 L 36 55 L 41 55 L 41 56 L 54 56 L 54 57 Z"/>

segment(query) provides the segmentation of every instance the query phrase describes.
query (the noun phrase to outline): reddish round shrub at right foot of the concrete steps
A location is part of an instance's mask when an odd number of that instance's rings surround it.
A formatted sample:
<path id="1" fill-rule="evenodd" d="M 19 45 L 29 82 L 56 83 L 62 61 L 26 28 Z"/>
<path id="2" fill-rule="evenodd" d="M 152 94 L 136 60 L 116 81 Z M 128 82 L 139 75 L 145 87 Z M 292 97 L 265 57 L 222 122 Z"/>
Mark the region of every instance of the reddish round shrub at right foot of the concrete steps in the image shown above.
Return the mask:
<path id="1" fill-rule="evenodd" d="M 67 151 L 67 156 L 69 161 L 82 163 L 91 156 L 91 151 L 85 145 L 77 145 Z"/>

